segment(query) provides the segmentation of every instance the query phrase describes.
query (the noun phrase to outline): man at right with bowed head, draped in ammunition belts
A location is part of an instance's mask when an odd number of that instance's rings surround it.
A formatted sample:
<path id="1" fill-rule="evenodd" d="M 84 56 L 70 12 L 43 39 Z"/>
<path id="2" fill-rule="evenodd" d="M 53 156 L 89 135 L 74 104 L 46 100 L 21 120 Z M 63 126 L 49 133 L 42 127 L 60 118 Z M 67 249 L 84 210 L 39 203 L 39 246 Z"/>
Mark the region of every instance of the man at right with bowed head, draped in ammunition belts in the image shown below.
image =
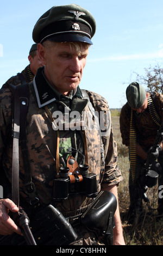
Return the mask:
<path id="1" fill-rule="evenodd" d="M 126 89 L 126 97 L 127 103 L 121 109 L 120 130 L 122 143 L 129 147 L 129 222 L 135 224 L 142 214 L 142 198 L 145 191 L 142 191 L 141 171 L 148 163 L 147 157 L 152 163 L 152 169 L 160 172 L 161 167 L 163 170 L 162 137 L 159 138 L 155 151 L 151 152 L 163 120 L 163 96 L 156 92 L 147 93 L 139 83 L 133 82 Z M 159 185 L 162 185 L 162 182 L 161 171 Z M 158 199 L 158 204 L 159 214 L 162 214 L 162 199 Z"/>

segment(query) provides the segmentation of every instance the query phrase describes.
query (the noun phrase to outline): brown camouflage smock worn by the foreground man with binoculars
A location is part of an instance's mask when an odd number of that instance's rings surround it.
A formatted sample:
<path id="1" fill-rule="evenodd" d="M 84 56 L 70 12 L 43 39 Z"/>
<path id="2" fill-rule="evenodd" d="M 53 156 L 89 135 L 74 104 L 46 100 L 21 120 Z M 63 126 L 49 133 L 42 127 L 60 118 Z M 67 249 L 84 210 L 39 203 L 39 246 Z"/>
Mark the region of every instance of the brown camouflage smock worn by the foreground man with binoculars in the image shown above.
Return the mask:
<path id="1" fill-rule="evenodd" d="M 37 75 L 36 75 L 37 83 Z M 40 83 L 37 84 L 37 90 L 41 88 L 43 90 L 43 84 L 45 88 L 48 84 L 41 77 Z M 30 170 L 34 185 L 36 187 L 36 196 L 40 199 L 41 203 L 53 203 L 65 217 L 74 216 L 85 211 L 87 206 L 91 203 L 91 198 L 87 198 L 86 195 L 77 194 L 76 196 L 70 195 L 68 199 L 61 202 L 54 202 L 53 195 L 53 180 L 57 176 L 56 169 L 56 154 L 57 154 L 57 131 L 55 131 L 52 125 L 52 115 L 55 111 L 62 111 L 64 108 L 71 111 L 78 111 L 83 115 L 83 121 L 88 125 L 90 119 L 92 124 L 96 125 L 90 109 L 87 105 L 87 100 L 82 97 L 73 97 L 72 100 L 68 97 L 65 99 L 54 99 L 53 90 L 49 93 L 49 96 L 45 99 L 45 106 L 38 107 L 38 96 L 36 92 L 36 84 L 30 83 L 30 97 L 29 97 L 29 109 L 27 113 L 27 144 L 28 154 L 30 162 Z M 48 88 L 49 89 L 49 88 Z M 43 95 L 45 93 L 43 92 Z M 99 106 L 101 106 L 105 112 L 109 111 L 108 104 L 98 94 L 89 92 L 90 98 L 95 100 Z M 53 98 L 53 101 L 49 103 L 49 97 Z M 55 95 L 56 97 L 56 95 Z M 11 119 L 12 119 L 12 94 L 8 88 L 0 90 L 0 157 L 3 161 L 3 168 L 5 173 L 11 182 L 11 166 L 12 166 L 12 137 L 11 137 Z M 99 109 L 99 106 L 97 107 Z M 64 108 L 63 108 L 64 107 Z M 54 118 L 55 119 L 55 118 Z M 57 119 L 56 119 L 57 121 Z M 109 129 L 109 134 L 106 132 L 105 136 L 101 138 L 101 132 L 97 130 L 85 130 L 87 141 L 87 153 L 90 171 L 97 174 L 98 191 L 102 187 L 119 184 L 122 180 L 121 170 L 117 166 L 117 149 L 116 142 L 111 126 L 111 118 L 106 121 Z M 67 132 L 67 131 L 66 131 Z M 63 131 L 59 131 L 64 133 Z M 83 161 L 84 155 L 84 143 L 83 143 L 83 131 L 75 130 L 65 133 L 66 136 L 60 136 L 60 156 L 64 156 L 64 151 L 67 149 L 71 151 L 76 147 L 77 151 L 81 154 L 77 154 L 77 161 Z M 70 140 L 71 137 L 71 140 Z M 71 144 L 70 144 L 71 141 Z M 67 145 L 66 145 L 67 143 Z M 103 145 L 103 146 L 102 146 Z M 66 147 L 66 148 L 65 148 Z M 101 166 L 101 147 L 104 150 L 105 166 Z M 82 156 L 82 157 L 81 157 Z M 22 198 L 27 199 L 28 196 L 24 188 L 24 166 L 22 153 L 20 148 L 20 194 Z M 24 201 L 22 200 L 22 202 Z M 81 227 L 82 229 L 82 227 Z M 82 231 L 82 237 L 89 237 L 87 231 Z M 85 234 L 85 235 L 84 235 Z M 83 238 L 84 239 L 84 238 Z M 82 239 L 82 240 L 83 240 Z M 91 243 L 91 239 L 88 243 Z M 92 244 L 95 243 L 95 237 L 92 238 Z"/>

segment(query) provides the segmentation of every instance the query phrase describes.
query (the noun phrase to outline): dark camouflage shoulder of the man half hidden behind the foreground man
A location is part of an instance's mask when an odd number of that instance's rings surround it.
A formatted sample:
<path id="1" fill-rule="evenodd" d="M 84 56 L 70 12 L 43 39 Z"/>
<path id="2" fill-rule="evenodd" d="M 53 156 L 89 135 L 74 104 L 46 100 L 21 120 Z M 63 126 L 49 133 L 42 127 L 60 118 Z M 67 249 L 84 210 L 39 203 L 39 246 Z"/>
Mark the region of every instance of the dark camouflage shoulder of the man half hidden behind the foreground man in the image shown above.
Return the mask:
<path id="1" fill-rule="evenodd" d="M 30 70 L 30 64 L 26 66 L 24 70 L 22 70 L 21 72 L 22 78 L 18 74 L 16 76 L 10 77 L 9 80 L 3 84 L 2 88 L 8 88 L 9 83 L 13 84 L 14 86 L 19 86 L 23 82 L 30 83 L 33 81 L 34 74 Z"/>

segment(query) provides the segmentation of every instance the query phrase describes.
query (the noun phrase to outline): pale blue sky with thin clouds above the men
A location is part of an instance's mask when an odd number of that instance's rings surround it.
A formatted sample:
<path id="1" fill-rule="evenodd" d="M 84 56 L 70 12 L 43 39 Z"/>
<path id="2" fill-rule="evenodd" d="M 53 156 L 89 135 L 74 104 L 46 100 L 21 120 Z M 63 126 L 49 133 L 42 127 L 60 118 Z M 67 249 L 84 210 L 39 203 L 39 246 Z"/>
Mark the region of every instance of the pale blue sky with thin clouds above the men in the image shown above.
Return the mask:
<path id="1" fill-rule="evenodd" d="M 162 66 L 162 0 L 1 0 L 0 87 L 29 64 L 39 17 L 54 5 L 70 3 L 88 9 L 97 22 L 80 87 L 103 95 L 110 108 L 121 108 L 134 72 L 144 75 L 150 65 Z"/>

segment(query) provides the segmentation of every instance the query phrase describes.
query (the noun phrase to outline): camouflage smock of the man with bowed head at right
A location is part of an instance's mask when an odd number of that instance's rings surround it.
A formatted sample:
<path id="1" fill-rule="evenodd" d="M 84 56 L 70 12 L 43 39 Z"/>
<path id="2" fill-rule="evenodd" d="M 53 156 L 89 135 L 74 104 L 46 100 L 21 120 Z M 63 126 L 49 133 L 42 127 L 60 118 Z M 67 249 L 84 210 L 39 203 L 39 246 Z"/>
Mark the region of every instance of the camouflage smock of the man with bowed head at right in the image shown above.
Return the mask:
<path id="1" fill-rule="evenodd" d="M 153 100 L 155 110 L 158 113 L 161 120 L 163 120 L 163 95 L 159 93 L 148 93 L 151 95 Z M 130 134 L 130 115 L 131 107 L 126 103 L 121 109 L 120 115 L 120 130 L 122 136 L 122 143 L 129 147 L 129 134 Z M 152 119 L 149 113 L 149 107 L 142 113 L 136 113 L 133 111 L 133 121 L 136 130 L 137 143 L 145 150 L 149 149 L 154 143 L 157 130 L 159 126 L 156 125 L 155 121 Z"/>

